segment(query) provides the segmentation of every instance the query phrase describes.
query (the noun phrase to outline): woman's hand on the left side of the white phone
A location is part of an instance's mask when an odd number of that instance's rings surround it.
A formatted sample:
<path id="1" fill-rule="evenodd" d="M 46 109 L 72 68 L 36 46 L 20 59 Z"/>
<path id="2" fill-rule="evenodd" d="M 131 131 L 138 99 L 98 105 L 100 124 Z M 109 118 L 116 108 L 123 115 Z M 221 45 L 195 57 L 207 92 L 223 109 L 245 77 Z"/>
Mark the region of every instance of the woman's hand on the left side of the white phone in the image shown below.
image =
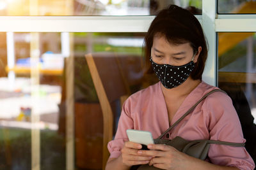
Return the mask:
<path id="1" fill-rule="evenodd" d="M 149 155 L 138 154 L 142 146 L 139 143 L 127 141 L 122 148 L 122 161 L 126 166 L 148 164 L 152 159 Z"/>

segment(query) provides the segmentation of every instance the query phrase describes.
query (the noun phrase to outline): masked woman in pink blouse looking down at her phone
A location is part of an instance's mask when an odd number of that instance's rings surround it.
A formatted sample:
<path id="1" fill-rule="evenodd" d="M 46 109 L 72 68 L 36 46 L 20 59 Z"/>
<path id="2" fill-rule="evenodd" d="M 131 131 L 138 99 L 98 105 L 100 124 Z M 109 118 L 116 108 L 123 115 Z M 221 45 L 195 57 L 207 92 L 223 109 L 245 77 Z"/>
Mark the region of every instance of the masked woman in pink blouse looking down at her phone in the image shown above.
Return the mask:
<path id="1" fill-rule="evenodd" d="M 160 11 L 145 37 L 148 73 L 159 83 L 132 94 L 125 101 L 106 169 L 130 169 L 149 164 L 161 169 L 253 169 L 244 147 L 212 144 L 206 161 L 190 157 L 168 145 L 141 145 L 128 141 L 126 130 L 138 129 L 160 136 L 207 92 L 218 89 L 202 81 L 207 46 L 198 20 L 172 5 Z M 164 139 L 212 139 L 244 143 L 230 97 L 214 92 L 191 111 Z"/>

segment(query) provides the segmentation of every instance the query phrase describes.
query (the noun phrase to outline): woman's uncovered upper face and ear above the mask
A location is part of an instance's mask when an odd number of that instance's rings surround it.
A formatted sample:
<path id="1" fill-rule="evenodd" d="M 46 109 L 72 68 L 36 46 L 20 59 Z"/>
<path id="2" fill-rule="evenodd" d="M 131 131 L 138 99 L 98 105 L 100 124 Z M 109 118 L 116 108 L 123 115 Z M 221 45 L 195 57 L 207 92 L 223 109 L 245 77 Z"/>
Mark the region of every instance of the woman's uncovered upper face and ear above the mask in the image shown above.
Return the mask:
<path id="1" fill-rule="evenodd" d="M 155 36 L 151 48 L 152 60 L 157 64 L 170 64 L 172 66 L 182 66 L 188 64 L 192 59 L 197 61 L 202 47 L 198 47 L 194 59 L 193 48 L 189 43 L 173 45 L 166 41 L 164 36 Z"/>

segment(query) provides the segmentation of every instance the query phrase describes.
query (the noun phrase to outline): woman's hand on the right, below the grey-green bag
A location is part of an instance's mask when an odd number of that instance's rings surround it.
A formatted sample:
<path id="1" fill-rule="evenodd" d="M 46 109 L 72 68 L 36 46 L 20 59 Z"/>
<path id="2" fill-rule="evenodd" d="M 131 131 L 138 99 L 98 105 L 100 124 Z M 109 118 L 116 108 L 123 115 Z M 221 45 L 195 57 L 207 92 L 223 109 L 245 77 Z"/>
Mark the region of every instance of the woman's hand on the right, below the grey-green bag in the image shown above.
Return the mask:
<path id="1" fill-rule="evenodd" d="M 148 145 L 150 150 L 139 150 L 139 155 L 153 157 L 149 165 L 161 169 L 188 169 L 190 157 L 168 145 Z"/>

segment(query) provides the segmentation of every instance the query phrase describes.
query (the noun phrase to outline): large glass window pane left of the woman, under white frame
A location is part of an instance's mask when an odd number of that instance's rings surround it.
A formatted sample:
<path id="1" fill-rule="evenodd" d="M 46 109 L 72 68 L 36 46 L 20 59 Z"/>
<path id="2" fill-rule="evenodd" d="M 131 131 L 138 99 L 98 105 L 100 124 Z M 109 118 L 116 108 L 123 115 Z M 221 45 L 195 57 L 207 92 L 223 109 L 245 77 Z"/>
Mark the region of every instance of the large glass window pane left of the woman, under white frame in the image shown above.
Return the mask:
<path id="1" fill-rule="evenodd" d="M 108 150 L 102 146 L 106 113 L 99 101 L 111 108 L 114 121 L 108 132 L 115 135 L 124 100 L 157 81 L 143 76 L 145 33 L 0 36 L 0 169 L 31 169 L 31 164 L 66 169 L 66 136 L 72 126 L 66 129 L 68 98 L 74 102 L 76 167 L 102 169 L 102 155 Z M 106 98 L 102 92 L 98 95 L 97 76 Z"/>

